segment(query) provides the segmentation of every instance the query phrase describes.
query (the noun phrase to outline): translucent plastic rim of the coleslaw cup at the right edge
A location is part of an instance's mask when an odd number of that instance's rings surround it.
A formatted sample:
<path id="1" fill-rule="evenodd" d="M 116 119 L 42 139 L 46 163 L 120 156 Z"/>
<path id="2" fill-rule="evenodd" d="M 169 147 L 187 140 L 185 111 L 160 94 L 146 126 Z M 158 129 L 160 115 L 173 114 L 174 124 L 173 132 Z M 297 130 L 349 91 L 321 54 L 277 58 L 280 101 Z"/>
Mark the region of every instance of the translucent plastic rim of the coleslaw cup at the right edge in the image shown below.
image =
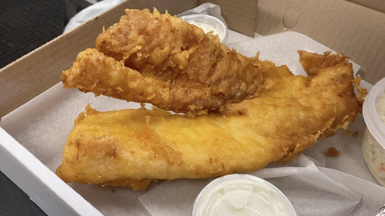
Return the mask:
<path id="1" fill-rule="evenodd" d="M 385 90 L 385 78 L 378 81 L 370 90 L 362 106 L 365 124 L 373 137 L 385 148 L 385 125 L 376 110 L 376 100 Z"/>

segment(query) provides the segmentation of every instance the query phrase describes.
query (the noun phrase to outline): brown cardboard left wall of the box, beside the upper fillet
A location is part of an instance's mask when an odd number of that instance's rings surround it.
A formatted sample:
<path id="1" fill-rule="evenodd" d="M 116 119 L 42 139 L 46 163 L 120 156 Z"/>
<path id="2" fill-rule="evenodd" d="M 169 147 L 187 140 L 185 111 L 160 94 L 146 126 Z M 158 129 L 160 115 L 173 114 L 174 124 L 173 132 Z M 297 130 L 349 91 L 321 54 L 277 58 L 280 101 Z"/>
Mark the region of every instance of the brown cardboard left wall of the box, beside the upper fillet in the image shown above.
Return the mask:
<path id="1" fill-rule="evenodd" d="M 198 6 L 198 0 L 128 0 L 83 23 L 0 70 L 0 118 L 60 81 L 60 74 L 75 61 L 77 53 L 95 47 L 95 39 L 124 15 L 124 9 L 156 7 L 172 15 Z M 109 13 L 108 13 L 109 12 Z"/>

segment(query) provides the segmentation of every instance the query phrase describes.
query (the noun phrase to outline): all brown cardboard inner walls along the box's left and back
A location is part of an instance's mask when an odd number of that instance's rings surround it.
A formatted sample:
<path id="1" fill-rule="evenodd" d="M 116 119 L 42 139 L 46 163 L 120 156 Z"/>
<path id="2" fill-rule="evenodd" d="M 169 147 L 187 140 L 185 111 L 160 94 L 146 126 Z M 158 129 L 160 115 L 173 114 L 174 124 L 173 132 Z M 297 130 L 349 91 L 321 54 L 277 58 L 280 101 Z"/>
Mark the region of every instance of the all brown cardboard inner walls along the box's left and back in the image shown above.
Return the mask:
<path id="1" fill-rule="evenodd" d="M 350 56 L 362 66 L 359 74 L 364 80 L 374 84 L 385 76 L 385 3 L 351 1 L 128 0 L 2 68 L 0 117 L 58 83 L 61 71 L 69 68 L 76 54 L 94 47 L 102 27 L 118 22 L 125 8 L 156 7 L 178 14 L 212 2 L 221 6 L 229 28 L 249 36 L 288 30 L 302 33 Z"/>

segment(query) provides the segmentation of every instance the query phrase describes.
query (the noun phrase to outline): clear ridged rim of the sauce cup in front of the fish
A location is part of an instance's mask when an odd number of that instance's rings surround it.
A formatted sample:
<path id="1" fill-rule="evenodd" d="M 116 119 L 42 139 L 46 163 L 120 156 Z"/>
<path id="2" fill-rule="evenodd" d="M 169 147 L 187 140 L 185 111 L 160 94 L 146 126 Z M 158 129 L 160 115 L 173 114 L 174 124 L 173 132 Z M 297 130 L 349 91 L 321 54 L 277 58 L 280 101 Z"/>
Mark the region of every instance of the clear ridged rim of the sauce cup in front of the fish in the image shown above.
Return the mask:
<path id="1" fill-rule="evenodd" d="M 242 181 L 243 180 L 243 181 Z M 194 204 L 192 205 L 192 211 L 191 216 L 197 216 L 197 213 L 201 213 L 203 211 L 204 206 L 206 206 L 206 203 L 209 201 L 209 196 L 212 194 L 212 191 L 216 191 L 218 188 L 223 187 L 224 182 L 230 183 L 255 183 L 259 186 L 262 186 L 266 189 L 269 189 L 270 191 L 273 191 L 284 203 L 287 204 L 286 207 L 288 207 L 288 210 L 291 214 L 291 216 L 297 216 L 295 209 L 293 205 L 290 203 L 289 199 L 285 196 L 285 194 L 282 193 L 276 186 L 269 183 L 268 181 L 258 178 L 256 176 L 252 176 L 249 174 L 229 174 L 226 176 L 222 176 L 219 178 L 214 179 L 211 181 L 208 185 L 206 185 L 202 191 L 198 194 L 198 196 L 194 200 Z M 201 214 L 198 214 L 199 216 L 203 216 Z"/>

